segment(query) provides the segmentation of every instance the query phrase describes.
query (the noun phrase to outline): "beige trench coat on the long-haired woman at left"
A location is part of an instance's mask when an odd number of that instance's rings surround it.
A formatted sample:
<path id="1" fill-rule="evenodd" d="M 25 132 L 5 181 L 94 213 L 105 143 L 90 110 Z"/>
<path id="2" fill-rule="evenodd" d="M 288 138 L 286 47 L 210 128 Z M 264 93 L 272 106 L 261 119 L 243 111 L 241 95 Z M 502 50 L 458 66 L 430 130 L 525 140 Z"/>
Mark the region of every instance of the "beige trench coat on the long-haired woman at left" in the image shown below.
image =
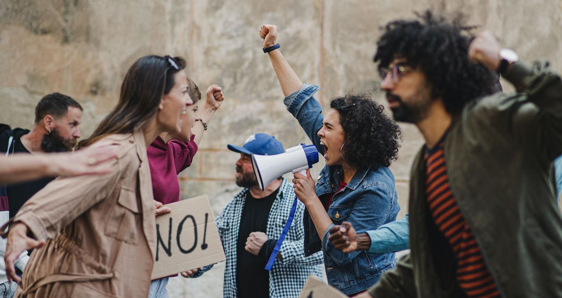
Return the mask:
<path id="1" fill-rule="evenodd" d="M 113 171 L 57 178 L 27 201 L 11 222 L 35 239 L 16 297 L 147 297 L 155 247 L 155 210 L 142 132 L 112 135 Z"/>

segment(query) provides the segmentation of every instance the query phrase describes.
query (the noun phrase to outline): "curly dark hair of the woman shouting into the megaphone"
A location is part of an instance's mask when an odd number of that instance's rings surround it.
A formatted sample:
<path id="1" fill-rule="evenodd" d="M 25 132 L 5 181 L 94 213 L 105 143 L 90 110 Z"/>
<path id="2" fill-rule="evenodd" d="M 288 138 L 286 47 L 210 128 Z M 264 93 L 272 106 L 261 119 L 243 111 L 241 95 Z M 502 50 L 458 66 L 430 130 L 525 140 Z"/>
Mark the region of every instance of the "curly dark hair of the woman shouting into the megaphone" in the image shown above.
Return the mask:
<path id="1" fill-rule="evenodd" d="M 347 93 L 333 98 L 330 108 L 339 113 L 345 134 L 343 158 L 351 167 L 388 167 L 396 161 L 402 131 L 369 93 Z"/>

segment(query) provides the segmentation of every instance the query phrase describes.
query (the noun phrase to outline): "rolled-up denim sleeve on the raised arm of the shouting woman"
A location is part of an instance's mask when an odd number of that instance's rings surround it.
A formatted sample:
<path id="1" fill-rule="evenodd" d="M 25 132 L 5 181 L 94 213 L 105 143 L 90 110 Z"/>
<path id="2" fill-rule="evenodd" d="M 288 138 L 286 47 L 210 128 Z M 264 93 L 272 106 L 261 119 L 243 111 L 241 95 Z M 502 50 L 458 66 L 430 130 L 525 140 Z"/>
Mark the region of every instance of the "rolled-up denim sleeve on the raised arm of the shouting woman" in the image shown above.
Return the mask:
<path id="1" fill-rule="evenodd" d="M 322 128 L 324 116 L 322 116 L 320 103 L 312 96 L 320 89 L 316 85 L 302 84 L 301 89 L 287 95 L 283 103 L 287 107 L 287 111 L 297 119 L 312 144 L 316 146 L 318 153 L 324 155 L 324 146 L 320 145 L 320 137 L 317 135 Z"/>

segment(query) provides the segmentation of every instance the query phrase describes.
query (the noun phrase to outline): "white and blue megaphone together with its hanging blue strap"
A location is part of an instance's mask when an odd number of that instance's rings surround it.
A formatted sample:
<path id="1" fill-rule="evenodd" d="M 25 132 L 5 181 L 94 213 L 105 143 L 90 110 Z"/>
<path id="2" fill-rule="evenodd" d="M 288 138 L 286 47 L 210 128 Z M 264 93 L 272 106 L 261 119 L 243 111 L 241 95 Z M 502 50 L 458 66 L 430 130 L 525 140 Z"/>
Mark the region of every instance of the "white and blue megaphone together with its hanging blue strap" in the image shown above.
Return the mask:
<path id="1" fill-rule="evenodd" d="M 263 191 L 266 186 L 268 186 L 271 181 L 275 180 L 279 176 L 292 172 L 305 171 L 306 169 L 312 168 L 312 164 L 318 162 L 318 149 L 314 145 L 300 144 L 292 148 L 286 149 L 285 153 L 275 154 L 275 155 L 256 155 L 251 154 L 253 172 L 256 174 L 257 183 L 260 185 L 260 189 Z M 305 173 L 306 175 L 306 173 Z M 294 196 L 293 206 L 291 207 L 291 212 L 289 213 L 289 218 L 285 223 L 283 232 L 275 244 L 273 252 L 269 256 L 268 264 L 265 265 L 267 271 L 271 270 L 273 267 L 273 262 L 277 258 L 277 254 L 281 249 L 283 240 L 289 232 L 289 227 L 293 222 L 294 212 L 297 209 L 297 196 Z"/>

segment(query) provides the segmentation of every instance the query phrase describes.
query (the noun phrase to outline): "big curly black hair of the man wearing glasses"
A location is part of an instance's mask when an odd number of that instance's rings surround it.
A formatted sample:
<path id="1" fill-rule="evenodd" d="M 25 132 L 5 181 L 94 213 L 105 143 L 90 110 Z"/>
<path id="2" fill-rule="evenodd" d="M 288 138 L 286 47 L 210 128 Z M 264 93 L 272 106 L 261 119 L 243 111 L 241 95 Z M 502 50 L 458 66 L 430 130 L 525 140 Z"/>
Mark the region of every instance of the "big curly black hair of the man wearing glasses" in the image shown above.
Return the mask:
<path id="1" fill-rule="evenodd" d="M 497 75 L 470 62 L 468 47 L 475 26 L 464 25 L 465 17 L 452 21 L 430 10 L 416 13 L 420 20 L 396 20 L 382 27 L 374 61 L 388 67 L 395 58 L 421 70 L 432 86 L 432 98 L 442 97 L 447 112 L 457 114 L 471 100 L 496 91 Z"/>

